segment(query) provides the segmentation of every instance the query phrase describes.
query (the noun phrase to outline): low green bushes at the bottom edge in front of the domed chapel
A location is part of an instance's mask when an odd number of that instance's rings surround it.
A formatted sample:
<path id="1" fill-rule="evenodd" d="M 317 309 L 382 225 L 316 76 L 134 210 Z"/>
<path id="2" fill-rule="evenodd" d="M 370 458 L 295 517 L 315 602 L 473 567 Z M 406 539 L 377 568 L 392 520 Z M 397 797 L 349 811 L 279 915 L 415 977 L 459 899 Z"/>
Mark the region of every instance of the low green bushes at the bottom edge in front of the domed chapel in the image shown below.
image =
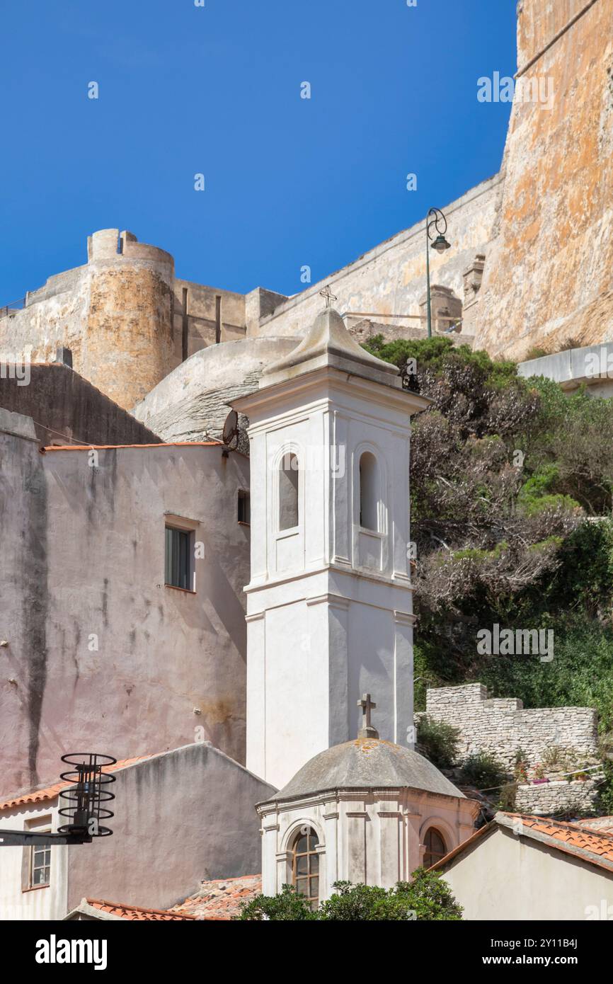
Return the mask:
<path id="1" fill-rule="evenodd" d="M 461 920 L 461 906 L 438 872 L 419 868 L 412 882 L 398 882 L 390 890 L 371 885 L 335 882 L 337 890 L 311 910 L 293 888 L 284 885 L 278 895 L 258 895 L 243 903 L 239 920 L 319 920 L 321 922 L 399 922 Z"/>

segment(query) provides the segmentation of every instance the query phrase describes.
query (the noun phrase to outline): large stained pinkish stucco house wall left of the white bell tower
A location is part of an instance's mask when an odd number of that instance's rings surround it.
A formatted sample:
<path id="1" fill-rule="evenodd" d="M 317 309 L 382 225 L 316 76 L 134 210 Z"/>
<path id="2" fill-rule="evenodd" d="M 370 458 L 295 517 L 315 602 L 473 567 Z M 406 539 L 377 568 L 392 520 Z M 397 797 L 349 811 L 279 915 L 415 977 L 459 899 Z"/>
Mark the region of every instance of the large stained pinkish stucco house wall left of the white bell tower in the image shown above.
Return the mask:
<path id="1" fill-rule="evenodd" d="M 71 751 L 200 737 L 244 761 L 249 461 L 162 446 L 100 450 L 92 467 L 88 451 L 0 443 L 0 793 L 56 781 Z M 200 521 L 195 594 L 164 586 L 164 513 Z"/>

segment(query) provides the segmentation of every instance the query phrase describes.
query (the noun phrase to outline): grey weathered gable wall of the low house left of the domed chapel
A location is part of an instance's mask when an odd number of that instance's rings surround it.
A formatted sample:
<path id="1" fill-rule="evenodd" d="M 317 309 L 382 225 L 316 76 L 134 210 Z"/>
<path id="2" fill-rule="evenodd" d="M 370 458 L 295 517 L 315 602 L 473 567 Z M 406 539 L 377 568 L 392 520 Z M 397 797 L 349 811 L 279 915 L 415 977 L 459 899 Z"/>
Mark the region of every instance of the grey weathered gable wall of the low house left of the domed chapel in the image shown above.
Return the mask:
<path id="1" fill-rule="evenodd" d="M 218 749 L 189 745 L 114 774 L 113 836 L 92 845 L 95 857 L 71 851 L 69 908 L 84 895 L 166 908 L 202 879 L 261 870 L 254 804 L 275 787 Z"/>

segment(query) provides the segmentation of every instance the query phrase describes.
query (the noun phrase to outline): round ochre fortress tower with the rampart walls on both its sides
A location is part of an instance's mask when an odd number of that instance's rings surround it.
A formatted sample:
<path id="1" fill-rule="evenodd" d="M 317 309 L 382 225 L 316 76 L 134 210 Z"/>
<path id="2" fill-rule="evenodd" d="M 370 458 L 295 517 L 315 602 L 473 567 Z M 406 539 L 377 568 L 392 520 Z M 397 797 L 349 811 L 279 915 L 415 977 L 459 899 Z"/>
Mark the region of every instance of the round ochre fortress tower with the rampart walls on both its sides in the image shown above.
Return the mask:
<path id="1" fill-rule="evenodd" d="M 50 362 L 70 348 L 75 370 L 125 409 L 199 348 L 244 334 L 242 294 L 178 279 L 169 253 L 118 229 L 88 238 L 85 266 L 0 311 L 0 353 L 31 346 L 32 362 Z"/>

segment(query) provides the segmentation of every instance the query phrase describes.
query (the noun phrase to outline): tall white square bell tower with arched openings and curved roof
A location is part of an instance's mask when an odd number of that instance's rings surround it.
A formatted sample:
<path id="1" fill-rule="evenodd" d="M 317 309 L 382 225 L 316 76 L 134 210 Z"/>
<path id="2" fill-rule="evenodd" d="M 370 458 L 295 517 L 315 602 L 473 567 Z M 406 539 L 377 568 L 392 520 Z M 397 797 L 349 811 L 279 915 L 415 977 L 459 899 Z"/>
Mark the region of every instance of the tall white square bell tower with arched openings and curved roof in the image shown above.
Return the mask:
<path id="1" fill-rule="evenodd" d="M 247 768 L 282 786 L 348 741 L 378 695 L 383 739 L 410 743 L 410 415 L 428 400 L 327 308 L 260 389 L 250 420 Z"/>

